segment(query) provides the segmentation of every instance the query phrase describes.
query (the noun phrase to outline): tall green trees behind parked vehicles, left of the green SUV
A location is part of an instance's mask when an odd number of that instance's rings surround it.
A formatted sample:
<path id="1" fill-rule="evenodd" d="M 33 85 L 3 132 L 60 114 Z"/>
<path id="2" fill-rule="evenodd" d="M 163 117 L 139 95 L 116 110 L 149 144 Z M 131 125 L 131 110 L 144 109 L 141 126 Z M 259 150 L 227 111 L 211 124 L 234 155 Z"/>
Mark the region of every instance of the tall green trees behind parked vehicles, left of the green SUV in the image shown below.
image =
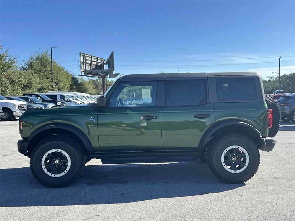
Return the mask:
<path id="1" fill-rule="evenodd" d="M 47 93 L 48 91 L 75 91 L 88 94 L 102 93 L 101 78 L 81 79 L 53 60 L 53 82 L 51 57 L 48 50 L 35 52 L 23 62 L 4 50 L 0 44 L 0 94 L 6 96 L 23 93 Z M 106 79 L 109 88 L 114 81 Z"/>

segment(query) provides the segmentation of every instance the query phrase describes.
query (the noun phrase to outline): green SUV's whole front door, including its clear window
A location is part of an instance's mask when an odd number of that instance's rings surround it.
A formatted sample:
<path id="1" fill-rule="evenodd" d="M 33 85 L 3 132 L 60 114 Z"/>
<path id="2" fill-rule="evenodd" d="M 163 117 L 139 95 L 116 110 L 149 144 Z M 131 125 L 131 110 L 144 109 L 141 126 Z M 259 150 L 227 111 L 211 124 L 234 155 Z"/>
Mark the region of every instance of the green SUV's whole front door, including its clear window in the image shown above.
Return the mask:
<path id="1" fill-rule="evenodd" d="M 162 150 L 157 82 L 121 82 L 98 113 L 101 151 Z"/>

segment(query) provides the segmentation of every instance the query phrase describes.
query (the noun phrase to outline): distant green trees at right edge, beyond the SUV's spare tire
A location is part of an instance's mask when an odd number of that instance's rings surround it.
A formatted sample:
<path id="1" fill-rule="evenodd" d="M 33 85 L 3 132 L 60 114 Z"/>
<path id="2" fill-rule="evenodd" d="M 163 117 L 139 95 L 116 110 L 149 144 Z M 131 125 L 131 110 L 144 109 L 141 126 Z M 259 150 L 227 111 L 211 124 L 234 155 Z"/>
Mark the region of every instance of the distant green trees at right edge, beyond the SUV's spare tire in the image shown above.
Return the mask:
<path id="1" fill-rule="evenodd" d="M 263 88 L 266 94 L 272 94 L 275 90 L 278 90 L 278 77 L 263 80 Z M 281 90 L 286 93 L 295 92 L 295 73 L 281 76 Z"/>

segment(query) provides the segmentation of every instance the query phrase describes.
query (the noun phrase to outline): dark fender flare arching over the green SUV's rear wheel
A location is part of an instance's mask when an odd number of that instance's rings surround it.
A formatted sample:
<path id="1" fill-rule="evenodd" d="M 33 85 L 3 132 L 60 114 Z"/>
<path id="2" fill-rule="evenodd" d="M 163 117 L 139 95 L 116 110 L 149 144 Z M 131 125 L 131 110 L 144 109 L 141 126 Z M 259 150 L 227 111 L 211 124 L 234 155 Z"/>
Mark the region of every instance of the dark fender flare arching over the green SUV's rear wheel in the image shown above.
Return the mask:
<path id="1" fill-rule="evenodd" d="M 206 151 L 210 141 L 228 133 L 241 133 L 251 138 L 255 144 L 260 145 L 261 133 L 249 123 L 241 120 L 224 120 L 213 124 L 203 134 L 199 147 L 203 152 Z"/>

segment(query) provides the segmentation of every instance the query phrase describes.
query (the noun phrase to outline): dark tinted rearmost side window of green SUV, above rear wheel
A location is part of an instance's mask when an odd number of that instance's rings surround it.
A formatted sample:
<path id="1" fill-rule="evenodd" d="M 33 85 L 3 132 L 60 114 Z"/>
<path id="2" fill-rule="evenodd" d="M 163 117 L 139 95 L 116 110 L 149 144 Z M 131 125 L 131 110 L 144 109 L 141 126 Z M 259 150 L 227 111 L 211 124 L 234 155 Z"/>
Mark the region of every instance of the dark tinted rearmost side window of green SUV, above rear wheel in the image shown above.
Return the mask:
<path id="1" fill-rule="evenodd" d="M 217 100 L 256 100 L 255 82 L 252 78 L 216 79 Z"/>

